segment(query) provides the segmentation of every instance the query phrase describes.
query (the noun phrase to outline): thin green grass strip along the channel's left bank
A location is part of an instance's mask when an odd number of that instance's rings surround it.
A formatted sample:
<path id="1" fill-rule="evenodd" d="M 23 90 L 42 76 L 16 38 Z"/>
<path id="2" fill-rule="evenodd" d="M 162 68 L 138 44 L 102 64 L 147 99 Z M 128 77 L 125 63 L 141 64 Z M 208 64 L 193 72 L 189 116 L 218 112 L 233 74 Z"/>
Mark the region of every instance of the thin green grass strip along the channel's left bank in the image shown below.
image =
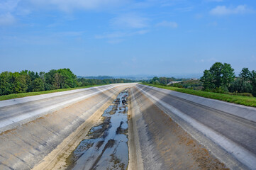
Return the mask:
<path id="1" fill-rule="evenodd" d="M 9 100 L 9 99 L 13 99 L 13 98 L 23 98 L 23 97 L 27 97 L 27 96 L 36 96 L 36 95 L 40 95 L 40 94 L 51 94 L 51 93 L 60 92 L 60 91 L 84 89 L 84 88 L 89 88 L 89 87 L 93 87 L 93 86 L 103 86 L 103 85 L 106 85 L 106 84 L 82 86 L 82 87 L 75 87 L 75 88 L 69 88 L 69 89 L 57 89 L 57 90 L 51 90 L 51 91 L 28 92 L 28 93 L 24 93 L 24 94 L 9 94 L 9 95 L 5 95 L 5 96 L 0 96 L 0 101 Z"/>

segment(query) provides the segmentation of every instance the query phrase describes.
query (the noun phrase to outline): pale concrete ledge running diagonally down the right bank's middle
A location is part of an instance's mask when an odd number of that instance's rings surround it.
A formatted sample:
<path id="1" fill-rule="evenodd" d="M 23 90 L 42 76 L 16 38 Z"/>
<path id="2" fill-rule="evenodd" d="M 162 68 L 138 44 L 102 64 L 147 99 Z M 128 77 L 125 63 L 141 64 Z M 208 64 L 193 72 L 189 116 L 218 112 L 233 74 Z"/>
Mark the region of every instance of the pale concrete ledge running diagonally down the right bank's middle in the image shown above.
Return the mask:
<path id="1" fill-rule="evenodd" d="M 214 156 L 223 161 L 230 167 L 230 169 L 255 169 L 255 154 L 252 154 L 247 149 L 237 145 L 235 142 L 228 140 L 228 138 L 218 134 L 218 132 L 215 132 L 214 130 L 211 130 L 178 109 L 160 101 L 155 96 L 152 96 L 151 94 L 148 94 L 148 92 L 143 91 L 143 89 L 140 89 L 140 87 L 136 86 L 136 88 L 148 96 L 153 103 L 155 103 L 162 111 L 165 111 L 165 113 L 167 113 L 167 115 L 169 115 L 178 125 L 186 130 L 192 137 L 194 137 L 194 139 L 209 149 Z M 207 139 L 207 141 L 211 143 L 204 142 L 204 140 L 201 139 Z M 224 152 L 218 149 L 222 149 Z M 225 152 L 228 154 L 225 154 Z"/>

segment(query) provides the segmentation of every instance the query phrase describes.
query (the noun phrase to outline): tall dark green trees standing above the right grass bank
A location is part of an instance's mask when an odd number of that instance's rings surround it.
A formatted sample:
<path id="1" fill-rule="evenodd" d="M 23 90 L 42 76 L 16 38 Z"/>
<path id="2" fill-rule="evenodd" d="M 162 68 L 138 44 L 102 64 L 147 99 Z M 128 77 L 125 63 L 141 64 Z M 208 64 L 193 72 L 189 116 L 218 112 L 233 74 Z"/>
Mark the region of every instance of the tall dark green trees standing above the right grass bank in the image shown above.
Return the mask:
<path id="1" fill-rule="evenodd" d="M 256 71 L 243 68 L 238 77 L 230 64 L 216 62 L 210 69 L 204 71 L 200 79 L 204 91 L 219 93 L 250 93 L 256 97 Z"/>

